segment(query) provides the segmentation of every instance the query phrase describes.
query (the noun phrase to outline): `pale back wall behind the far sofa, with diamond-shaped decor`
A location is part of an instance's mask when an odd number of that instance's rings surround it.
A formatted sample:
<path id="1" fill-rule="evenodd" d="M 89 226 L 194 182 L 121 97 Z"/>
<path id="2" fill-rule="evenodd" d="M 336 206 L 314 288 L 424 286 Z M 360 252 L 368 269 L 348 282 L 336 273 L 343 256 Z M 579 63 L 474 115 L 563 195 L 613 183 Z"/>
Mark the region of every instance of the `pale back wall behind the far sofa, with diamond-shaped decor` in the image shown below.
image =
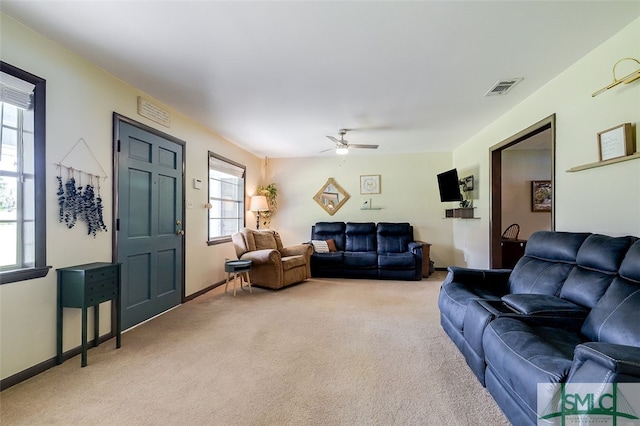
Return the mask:
<path id="1" fill-rule="evenodd" d="M 269 176 L 282 194 L 271 226 L 295 244 L 309 241 L 311 225 L 320 221 L 410 222 L 417 240 L 433 244 L 436 266 L 448 266 L 453 220 L 443 217 L 453 203 L 440 202 L 436 174 L 450 168 L 451 153 L 271 159 Z M 361 175 L 380 175 L 381 193 L 361 195 Z M 313 200 L 330 177 L 351 196 L 333 216 Z M 369 198 L 380 210 L 360 210 Z"/>

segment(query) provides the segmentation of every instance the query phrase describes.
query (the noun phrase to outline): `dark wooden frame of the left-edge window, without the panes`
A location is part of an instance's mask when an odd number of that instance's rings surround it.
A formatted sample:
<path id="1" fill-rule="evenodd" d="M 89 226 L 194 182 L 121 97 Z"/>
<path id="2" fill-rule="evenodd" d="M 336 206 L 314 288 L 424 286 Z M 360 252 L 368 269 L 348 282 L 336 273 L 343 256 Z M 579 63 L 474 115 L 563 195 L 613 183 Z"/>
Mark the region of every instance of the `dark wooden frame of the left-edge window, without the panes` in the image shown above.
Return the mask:
<path id="1" fill-rule="evenodd" d="M 33 84 L 33 150 L 34 205 L 46 205 L 46 80 L 0 61 L 0 71 Z M 46 209 L 34 212 L 34 266 L 0 272 L 0 284 L 42 278 L 49 273 L 47 266 Z"/>

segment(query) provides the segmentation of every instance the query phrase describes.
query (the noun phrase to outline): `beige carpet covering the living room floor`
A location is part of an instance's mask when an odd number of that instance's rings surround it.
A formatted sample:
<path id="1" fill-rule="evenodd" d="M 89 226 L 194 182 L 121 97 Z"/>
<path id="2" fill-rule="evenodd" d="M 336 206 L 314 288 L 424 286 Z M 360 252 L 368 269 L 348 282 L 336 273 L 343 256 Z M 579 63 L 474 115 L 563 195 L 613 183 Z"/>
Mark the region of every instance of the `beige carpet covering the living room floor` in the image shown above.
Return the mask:
<path id="1" fill-rule="evenodd" d="M 217 288 L 0 394 L 8 425 L 507 425 L 421 282 Z"/>

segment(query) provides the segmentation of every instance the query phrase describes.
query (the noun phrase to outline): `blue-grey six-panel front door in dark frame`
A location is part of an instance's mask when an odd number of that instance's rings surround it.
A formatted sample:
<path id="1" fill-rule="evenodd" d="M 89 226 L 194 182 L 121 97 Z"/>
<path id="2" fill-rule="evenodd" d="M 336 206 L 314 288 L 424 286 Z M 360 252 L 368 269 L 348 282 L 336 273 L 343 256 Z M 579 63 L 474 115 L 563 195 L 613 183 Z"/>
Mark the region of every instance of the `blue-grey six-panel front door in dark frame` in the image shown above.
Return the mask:
<path id="1" fill-rule="evenodd" d="M 117 258 L 122 326 L 166 311 L 183 296 L 183 144 L 116 116 Z"/>

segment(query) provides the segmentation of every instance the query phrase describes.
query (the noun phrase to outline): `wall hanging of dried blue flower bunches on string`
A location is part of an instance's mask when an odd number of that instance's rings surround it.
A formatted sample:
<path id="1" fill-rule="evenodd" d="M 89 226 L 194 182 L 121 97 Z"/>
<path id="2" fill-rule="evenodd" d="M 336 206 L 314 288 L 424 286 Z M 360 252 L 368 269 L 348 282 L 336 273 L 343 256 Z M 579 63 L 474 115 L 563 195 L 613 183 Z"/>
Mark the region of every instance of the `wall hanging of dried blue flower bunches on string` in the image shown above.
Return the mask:
<path id="1" fill-rule="evenodd" d="M 93 156 L 93 159 L 100 167 L 103 175 L 92 174 L 80 169 L 66 166 L 64 161 L 69 154 L 83 143 Z M 87 225 L 87 234 L 93 235 L 94 238 L 98 232 L 107 231 L 102 216 L 102 197 L 100 196 L 100 180 L 107 179 L 107 174 L 96 159 L 83 138 L 69 150 L 67 155 L 59 162 L 58 166 L 58 221 L 64 223 L 67 228 L 73 228 L 78 221 L 85 222 Z M 66 181 L 63 184 L 62 169 L 66 169 Z M 77 177 L 77 180 L 76 180 Z M 95 182 L 94 182 L 95 180 Z"/>

